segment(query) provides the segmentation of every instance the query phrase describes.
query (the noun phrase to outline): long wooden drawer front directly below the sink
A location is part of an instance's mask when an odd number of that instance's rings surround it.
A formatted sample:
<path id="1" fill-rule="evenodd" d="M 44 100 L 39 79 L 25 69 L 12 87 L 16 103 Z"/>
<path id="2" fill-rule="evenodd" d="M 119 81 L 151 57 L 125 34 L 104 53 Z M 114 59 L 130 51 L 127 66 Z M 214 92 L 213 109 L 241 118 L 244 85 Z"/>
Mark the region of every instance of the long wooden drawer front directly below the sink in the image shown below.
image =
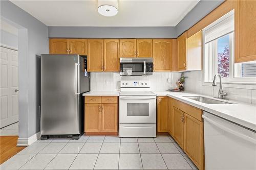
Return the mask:
<path id="1" fill-rule="evenodd" d="M 173 100 L 173 106 L 180 109 L 181 111 L 185 112 L 186 114 L 200 120 L 202 120 L 202 110 L 199 108 L 196 108 L 194 106 L 188 105 L 186 103 L 180 102 L 178 100 Z"/>

